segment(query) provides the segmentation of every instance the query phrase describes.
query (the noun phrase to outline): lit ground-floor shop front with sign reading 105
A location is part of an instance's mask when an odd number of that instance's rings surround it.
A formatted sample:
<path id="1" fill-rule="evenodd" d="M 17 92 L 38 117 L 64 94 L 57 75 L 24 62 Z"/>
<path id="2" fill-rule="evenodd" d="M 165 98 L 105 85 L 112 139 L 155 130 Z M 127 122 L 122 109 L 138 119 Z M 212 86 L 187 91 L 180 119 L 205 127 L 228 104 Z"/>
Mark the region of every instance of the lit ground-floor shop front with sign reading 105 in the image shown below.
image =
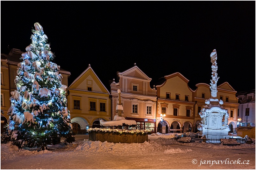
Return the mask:
<path id="1" fill-rule="evenodd" d="M 150 130 L 151 133 L 156 133 L 156 119 L 126 117 L 127 120 L 135 120 L 138 129 Z"/>

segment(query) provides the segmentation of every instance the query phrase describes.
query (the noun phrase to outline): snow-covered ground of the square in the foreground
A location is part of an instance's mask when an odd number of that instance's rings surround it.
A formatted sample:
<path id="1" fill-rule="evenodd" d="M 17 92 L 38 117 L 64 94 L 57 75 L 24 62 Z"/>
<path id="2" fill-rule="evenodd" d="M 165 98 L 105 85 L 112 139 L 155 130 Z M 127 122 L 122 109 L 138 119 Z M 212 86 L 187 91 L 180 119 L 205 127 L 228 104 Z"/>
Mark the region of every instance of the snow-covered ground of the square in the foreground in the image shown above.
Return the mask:
<path id="1" fill-rule="evenodd" d="M 179 143 L 173 137 L 157 133 L 148 142 L 126 144 L 75 135 L 72 144 L 39 152 L 1 144 L 1 169 L 255 169 L 254 143 Z"/>

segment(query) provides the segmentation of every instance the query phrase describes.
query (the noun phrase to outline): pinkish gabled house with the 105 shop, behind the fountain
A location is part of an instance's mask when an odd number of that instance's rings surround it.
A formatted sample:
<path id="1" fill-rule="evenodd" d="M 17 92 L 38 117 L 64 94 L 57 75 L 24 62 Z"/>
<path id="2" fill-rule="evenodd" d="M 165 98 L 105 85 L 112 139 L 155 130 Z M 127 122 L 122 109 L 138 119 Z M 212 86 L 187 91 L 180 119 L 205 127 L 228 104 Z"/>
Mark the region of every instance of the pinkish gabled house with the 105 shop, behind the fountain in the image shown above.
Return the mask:
<path id="1" fill-rule="evenodd" d="M 124 72 L 117 72 L 119 82 L 110 85 L 112 96 L 112 119 L 117 113 L 118 104 L 117 89 L 121 91 L 121 103 L 123 105 L 123 117 L 135 120 L 139 129 L 151 130 L 156 133 L 156 90 L 150 87 L 149 78 L 142 72 L 136 63 Z"/>

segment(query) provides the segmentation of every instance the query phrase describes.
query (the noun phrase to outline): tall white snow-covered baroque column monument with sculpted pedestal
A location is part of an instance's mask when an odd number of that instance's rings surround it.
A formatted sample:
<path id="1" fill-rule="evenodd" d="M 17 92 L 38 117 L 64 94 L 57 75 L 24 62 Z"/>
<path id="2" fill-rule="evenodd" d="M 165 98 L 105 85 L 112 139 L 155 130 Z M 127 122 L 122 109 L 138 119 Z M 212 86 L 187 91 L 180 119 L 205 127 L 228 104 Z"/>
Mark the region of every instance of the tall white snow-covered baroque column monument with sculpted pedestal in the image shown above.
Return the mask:
<path id="1" fill-rule="evenodd" d="M 211 69 L 212 69 L 212 79 L 210 80 L 211 98 L 205 100 L 205 106 L 199 113 L 201 116 L 201 123 L 198 127 L 200 133 L 205 135 L 207 139 L 221 139 L 229 138 L 228 132 L 230 128 L 228 126 L 228 110 L 222 107 L 223 101 L 217 99 L 217 52 L 214 49 L 210 54 L 211 57 Z M 224 122 L 223 116 L 225 116 Z"/>

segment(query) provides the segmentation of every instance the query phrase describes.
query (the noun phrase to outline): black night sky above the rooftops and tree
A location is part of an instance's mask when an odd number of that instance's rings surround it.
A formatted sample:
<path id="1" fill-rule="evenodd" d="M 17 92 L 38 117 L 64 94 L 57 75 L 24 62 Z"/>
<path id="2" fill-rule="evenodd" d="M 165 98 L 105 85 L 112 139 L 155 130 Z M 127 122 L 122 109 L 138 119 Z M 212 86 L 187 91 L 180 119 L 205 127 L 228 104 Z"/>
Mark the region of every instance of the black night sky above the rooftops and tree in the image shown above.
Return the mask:
<path id="1" fill-rule="evenodd" d="M 210 84 L 255 89 L 255 1 L 1 1 L 1 53 L 25 52 L 39 22 L 53 62 L 71 72 L 70 85 L 91 65 L 103 84 L 134 63 L 150 78 L 180 72 Z"/>

